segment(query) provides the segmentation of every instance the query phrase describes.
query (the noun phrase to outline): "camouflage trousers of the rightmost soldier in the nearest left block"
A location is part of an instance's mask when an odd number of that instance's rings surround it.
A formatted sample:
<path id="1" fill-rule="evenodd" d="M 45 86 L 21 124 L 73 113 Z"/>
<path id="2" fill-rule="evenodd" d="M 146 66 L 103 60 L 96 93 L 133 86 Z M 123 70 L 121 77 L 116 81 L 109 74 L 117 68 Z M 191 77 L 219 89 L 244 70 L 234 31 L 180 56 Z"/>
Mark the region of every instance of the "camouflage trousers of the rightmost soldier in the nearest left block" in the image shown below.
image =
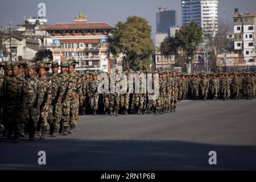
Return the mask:
<path id="1" fill-rule="evenodd" d="M 73 96 L 71 96 L 71 100 L 70 100 L 70 124 L 71 125 L 76 125 L 77 124 L 77 120 L 79 117 L 79 98 L 76 97 L 76 93 L 73 94 Z"/>

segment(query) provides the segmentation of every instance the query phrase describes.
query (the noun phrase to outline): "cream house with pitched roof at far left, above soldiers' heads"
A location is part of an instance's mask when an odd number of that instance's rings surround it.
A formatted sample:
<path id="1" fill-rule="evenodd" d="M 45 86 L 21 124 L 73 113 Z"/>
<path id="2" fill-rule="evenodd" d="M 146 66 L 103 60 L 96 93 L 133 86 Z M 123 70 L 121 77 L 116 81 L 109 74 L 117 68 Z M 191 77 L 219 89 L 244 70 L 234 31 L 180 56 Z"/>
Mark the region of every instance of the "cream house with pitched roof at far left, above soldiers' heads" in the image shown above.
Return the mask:
<path id="1" fill-rule="evenodd" d="M 4 39 L 3 45 L 5 45 L 7 52 L 11 52 L 12 60 L 18 60 L 18 56 L 22 56 L 23 60 L 32 60 L 39 50 L 39 42 L 18 36 Z"/>

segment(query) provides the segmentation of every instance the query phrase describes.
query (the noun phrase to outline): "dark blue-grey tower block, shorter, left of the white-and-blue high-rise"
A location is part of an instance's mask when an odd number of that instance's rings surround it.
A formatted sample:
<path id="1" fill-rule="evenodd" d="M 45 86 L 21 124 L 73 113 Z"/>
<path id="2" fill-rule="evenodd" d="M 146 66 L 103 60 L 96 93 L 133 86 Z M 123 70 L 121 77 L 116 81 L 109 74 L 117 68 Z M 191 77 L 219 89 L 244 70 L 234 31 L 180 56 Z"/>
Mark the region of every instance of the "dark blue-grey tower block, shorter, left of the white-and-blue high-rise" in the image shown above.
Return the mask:
<path id="1" fill-rule="evenodd" d="M 176 11 L 159 7 L 156 12 L 156 32 L 168 34 L 170 27 L 176 26 Z"/>

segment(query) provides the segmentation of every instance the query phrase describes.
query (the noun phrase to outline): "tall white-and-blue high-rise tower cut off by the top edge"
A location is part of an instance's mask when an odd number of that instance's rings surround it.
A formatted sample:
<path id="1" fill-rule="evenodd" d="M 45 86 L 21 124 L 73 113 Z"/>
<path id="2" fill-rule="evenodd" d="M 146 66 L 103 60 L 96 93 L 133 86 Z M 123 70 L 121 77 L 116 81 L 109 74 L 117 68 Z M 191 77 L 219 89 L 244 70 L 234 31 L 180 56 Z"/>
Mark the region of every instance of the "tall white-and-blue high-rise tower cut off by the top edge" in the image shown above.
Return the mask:
<path id="1" fill-rule="evenodd" d="M 218 31 L 218 0 L 181 0 L 182 23 L 196 22 L 203 31 Z"/>

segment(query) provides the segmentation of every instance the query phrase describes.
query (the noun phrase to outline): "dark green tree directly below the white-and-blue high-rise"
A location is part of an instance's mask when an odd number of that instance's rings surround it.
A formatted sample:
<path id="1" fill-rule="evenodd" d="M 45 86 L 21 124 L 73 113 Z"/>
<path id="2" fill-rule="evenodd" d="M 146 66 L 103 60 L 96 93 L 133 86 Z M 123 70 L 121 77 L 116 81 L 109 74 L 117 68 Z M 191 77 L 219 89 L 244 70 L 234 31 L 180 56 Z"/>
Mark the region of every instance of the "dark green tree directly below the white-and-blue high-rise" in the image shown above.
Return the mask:
<path id="1" fill-rule="evenodd" d="M 187 57 L 190 57 L 191 72 L 193 72 L 193 57 L 195 56 L 199 44 L 203 42 L 202 28 L 196 22 L 191 22 L 190 24 L 182 26 L 179 31 L 176 31 L 175 36 L 184 53 Z M 187 60 L 187 64 L 188 63 L 189 60 Z"/>

